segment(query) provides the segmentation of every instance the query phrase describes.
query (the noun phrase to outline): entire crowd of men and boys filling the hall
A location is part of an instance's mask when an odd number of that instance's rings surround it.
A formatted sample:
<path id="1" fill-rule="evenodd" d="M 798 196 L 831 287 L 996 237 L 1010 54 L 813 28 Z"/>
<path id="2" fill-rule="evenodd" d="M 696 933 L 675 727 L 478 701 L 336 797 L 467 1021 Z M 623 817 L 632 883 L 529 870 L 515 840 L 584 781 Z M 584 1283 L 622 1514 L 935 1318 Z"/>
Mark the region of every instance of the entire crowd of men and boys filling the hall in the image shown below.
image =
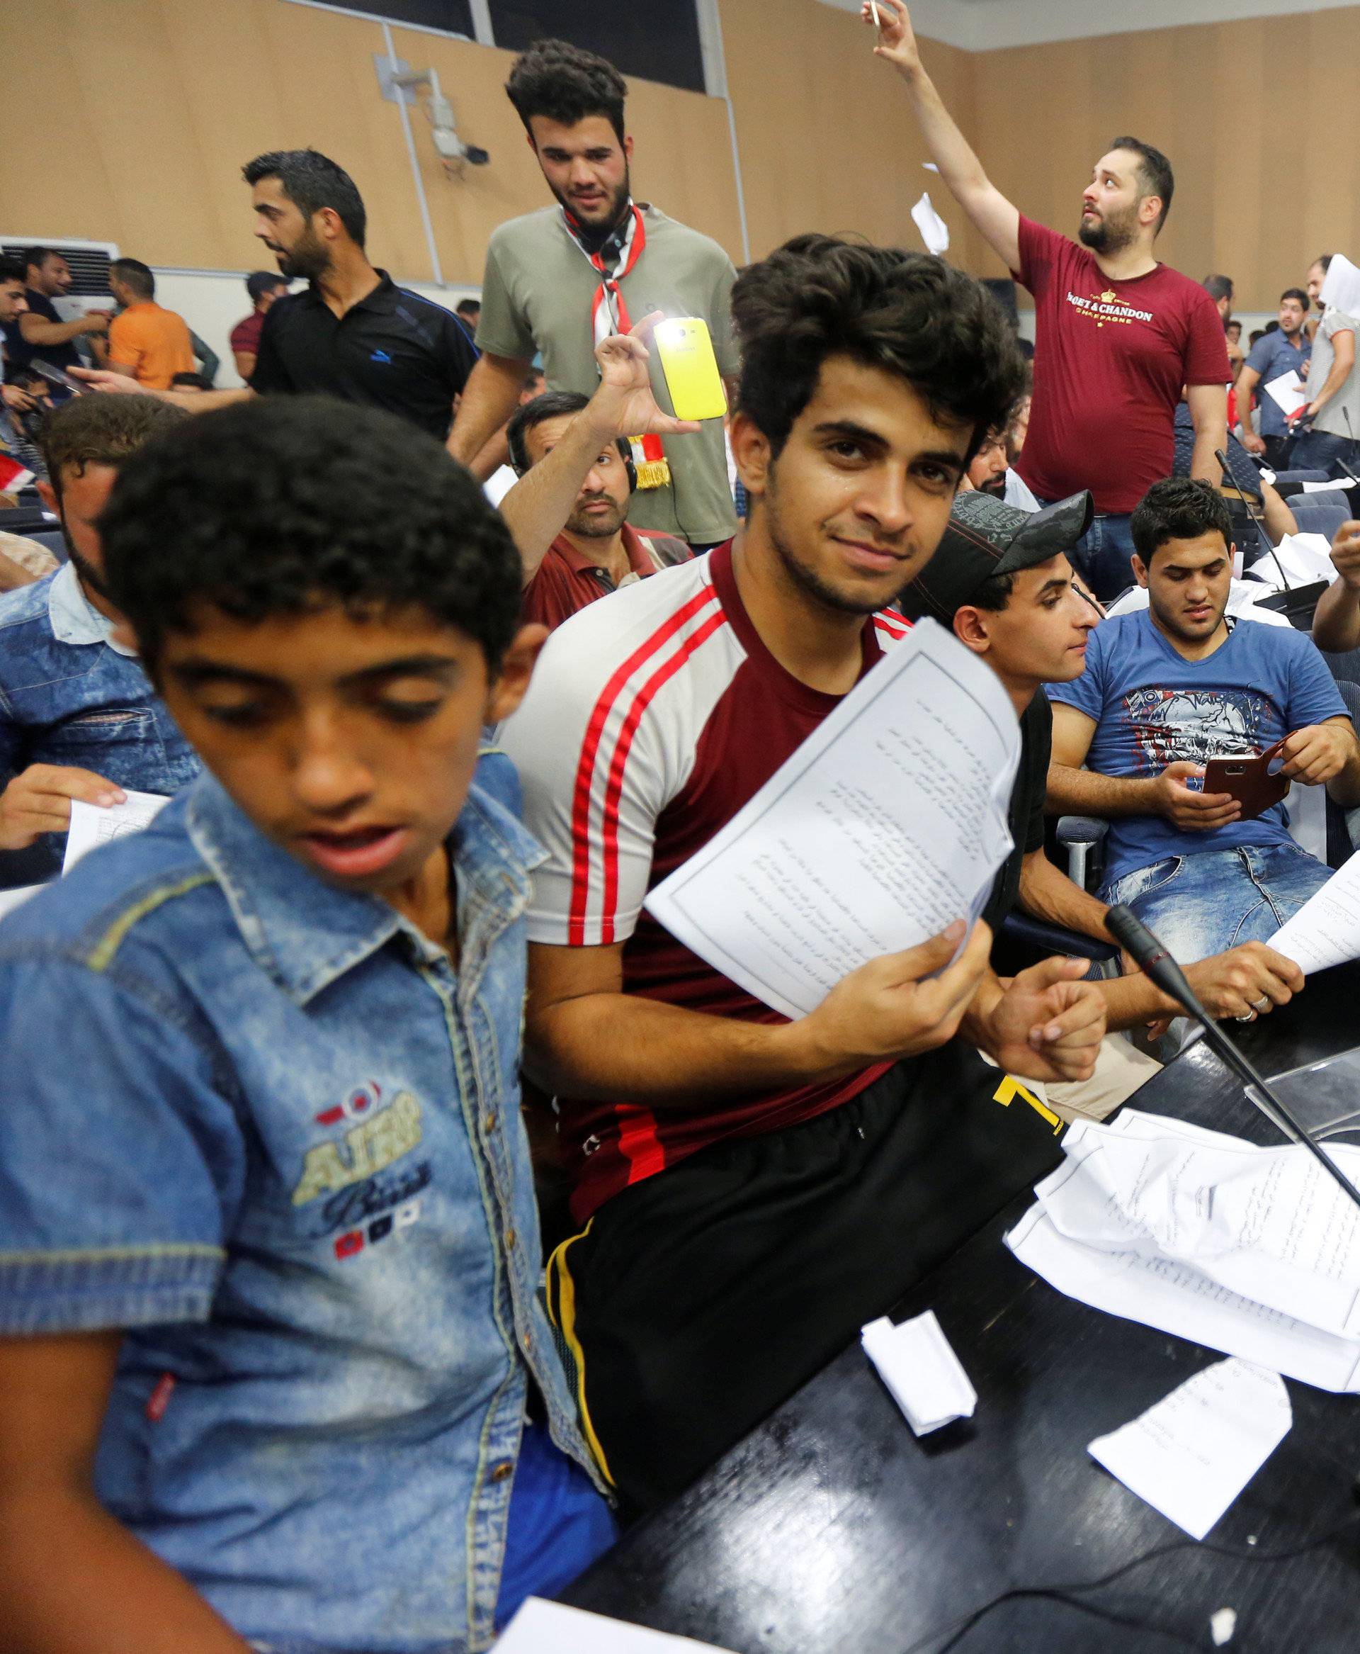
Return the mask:
<path id="1" fill-rule="evenodd" d="M 311 149 L 243 167 L 240 389 L 145 263 L 69 318 L 58 250 L 0 261 L 0 447 L 58 536 L 0 511 L 0 895 L 41 885 L 0 925 L 18 1654 L 487 1647 L 1178 1047 L 1147 978 L 1013 959 L 1010 916 L 1127 903 L 1221 1017 L 1305 991 L 1269 943 L 1330 868 L 1203 779 L 1271 748 L 1360 807 L 1319 650 L 1360 648 L 1360 521 L 1317 642 L 1234 609 L 1287 473 L 1360 465 L 1330 256 L 1243 351 L 1231 278 L 1157 258 L 1160 149 L 1115 136 L 1041 225 L 902 0 L 864 22 L 1033 362 L 935 256 L 737 271 L 635 200 L 623 76 L 562 41 L 506 84 L 544 205 L 454 309 Z M 676 415 L 663 303 L 725 418 Z M 925 620 L 1015 708 L 1013 850 L 972 933 L 788 1022 L 644 898 Z M 61 877 L 73 807 L 134 794 L 170 802 Z M 1061 812 L 1109 822 L 1089 885 Z"/>

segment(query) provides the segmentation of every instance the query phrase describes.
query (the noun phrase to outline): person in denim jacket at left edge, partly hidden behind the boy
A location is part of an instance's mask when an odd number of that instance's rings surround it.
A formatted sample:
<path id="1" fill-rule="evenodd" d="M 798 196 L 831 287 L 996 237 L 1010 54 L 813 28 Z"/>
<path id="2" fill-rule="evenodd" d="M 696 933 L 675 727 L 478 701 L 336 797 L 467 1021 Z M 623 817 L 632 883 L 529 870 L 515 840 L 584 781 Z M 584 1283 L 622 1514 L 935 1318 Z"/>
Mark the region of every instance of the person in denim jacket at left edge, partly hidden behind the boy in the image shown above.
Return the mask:
<path id="1" fill-rule="evenodd" d="M 107 582 L 96 519 L 119 466 L 187 415 L 155 397 L 74 397 L 43 432 L 69 562 L 0 597 L 0 887 L 61 872 L 71 799 L 177 792 L 198 759 L 150 686 Z"/>

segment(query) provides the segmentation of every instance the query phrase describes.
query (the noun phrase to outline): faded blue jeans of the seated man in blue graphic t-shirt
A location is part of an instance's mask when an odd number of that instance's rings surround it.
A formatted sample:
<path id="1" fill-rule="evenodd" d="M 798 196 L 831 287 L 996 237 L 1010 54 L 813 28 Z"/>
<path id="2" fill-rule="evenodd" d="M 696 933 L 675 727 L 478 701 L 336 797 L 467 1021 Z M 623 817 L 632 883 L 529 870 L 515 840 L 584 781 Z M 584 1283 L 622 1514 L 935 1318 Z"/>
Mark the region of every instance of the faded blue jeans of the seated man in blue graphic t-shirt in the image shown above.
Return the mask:
<path id="1" fill-rule="evenodd" d="M 1127 903 L 1173 959 L 1193 964 L 1244 941 L 1269 941 L 1332 877 L 1292 844 L 1167 855 L 1101 892 Z"/>

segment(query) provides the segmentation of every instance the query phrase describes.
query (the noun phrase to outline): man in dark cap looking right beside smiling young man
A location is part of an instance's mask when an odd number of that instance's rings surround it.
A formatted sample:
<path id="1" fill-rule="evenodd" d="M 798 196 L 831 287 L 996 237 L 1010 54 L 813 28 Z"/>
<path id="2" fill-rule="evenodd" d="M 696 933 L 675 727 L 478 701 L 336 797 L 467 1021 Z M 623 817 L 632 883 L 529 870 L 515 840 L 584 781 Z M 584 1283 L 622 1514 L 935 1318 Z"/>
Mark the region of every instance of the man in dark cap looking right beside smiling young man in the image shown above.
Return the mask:
<path id="1" fill-rule="evenodd" d="M 996 873 L 983 911 L 996 930 L 1011 908 L 1068 930 L 1109 939 L 1106 905 L 1072 883 L 1044 855 L 1044 794 L 1053 713 L 1044 683 L 1071 683 L 1086 670 L 1086 645 L 1099 610 L 1072 584 L 1068 552 L 1086 531 L 1091 495 L 1074 495 L 1038 513 L 1018 511 L 983 493 L 963 493 L 939 551 L 902 594 L 909 619 L 930 615 L 982 655 L 1010 693 L 1023 739 L 1010 807 L 1015 849 Z M 1246 943 L 1201 959 L 1186 974 L 1221 1017 L 1286 1004 L 1302 973 L 1264 943 Z M 1177 1006 L 1139 974 L 1101 982 L 1110 1030 L 1163 1022 Z M 1125 1040 L 1107 1039 L 1089 1082 L 1048 1085 L 1059 1113 L 1102 1118 L 1153 1072 Z M 1028 1085 L 1030 1082 L 1026 1082 Z M 1030 1085 L 1038 1090 L 1038 1085 Z"/>

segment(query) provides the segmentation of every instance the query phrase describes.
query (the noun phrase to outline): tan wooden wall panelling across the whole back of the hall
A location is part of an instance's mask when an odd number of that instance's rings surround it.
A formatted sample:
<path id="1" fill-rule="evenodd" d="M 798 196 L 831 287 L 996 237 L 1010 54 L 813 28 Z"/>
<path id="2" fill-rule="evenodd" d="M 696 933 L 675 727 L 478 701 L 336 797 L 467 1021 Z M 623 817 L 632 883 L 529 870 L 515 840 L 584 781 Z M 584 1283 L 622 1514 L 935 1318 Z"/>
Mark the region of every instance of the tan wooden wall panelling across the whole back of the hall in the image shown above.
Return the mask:
<path id="1" fill-rule="evenodd" d="M 801 230 L 920 246 L 911 205 L 930 189 L 950 256 L 1000 265 L 925 159 L 873 36 L 818 0 L 720 0 L 755 256 Z M 511 55 L 393 28 L 435 65 L 463 136 L 492 164 L 449 179 L 411 111 L 445 280 L 478 283 L 489 232 L 547 192 L 502 83 Z M 0 230 L 116 240 L 154 265 L 253 268 L 245 160 L 314 144 L 352 174 L 370 251 L 402 280 L 433 278 L 402 122 L 377 91 L 380 25 L 284 0 L 5 0 L 0 99 L 30 134 L 0 169 Z M 1360 147 L 1337 73 L 1360 61 L 1360 5 L 1291 18 L 1114 35 L 968 55 L 924 51 L 996 184 L 1072 233 L 1092 162 L 1115 132 L 1172 157 L 1177 200 L 1160 255 L 1195 280 L 1238 283 L 1272 309 L 1319 251 L 1360 261 Z M 1319 111 L 1332 111 L 1332 116 Z M 635 189 L 740 260 L 727 111 L 635 81 Z M 18 129 L 17 129 L 18 131 Z"/>

